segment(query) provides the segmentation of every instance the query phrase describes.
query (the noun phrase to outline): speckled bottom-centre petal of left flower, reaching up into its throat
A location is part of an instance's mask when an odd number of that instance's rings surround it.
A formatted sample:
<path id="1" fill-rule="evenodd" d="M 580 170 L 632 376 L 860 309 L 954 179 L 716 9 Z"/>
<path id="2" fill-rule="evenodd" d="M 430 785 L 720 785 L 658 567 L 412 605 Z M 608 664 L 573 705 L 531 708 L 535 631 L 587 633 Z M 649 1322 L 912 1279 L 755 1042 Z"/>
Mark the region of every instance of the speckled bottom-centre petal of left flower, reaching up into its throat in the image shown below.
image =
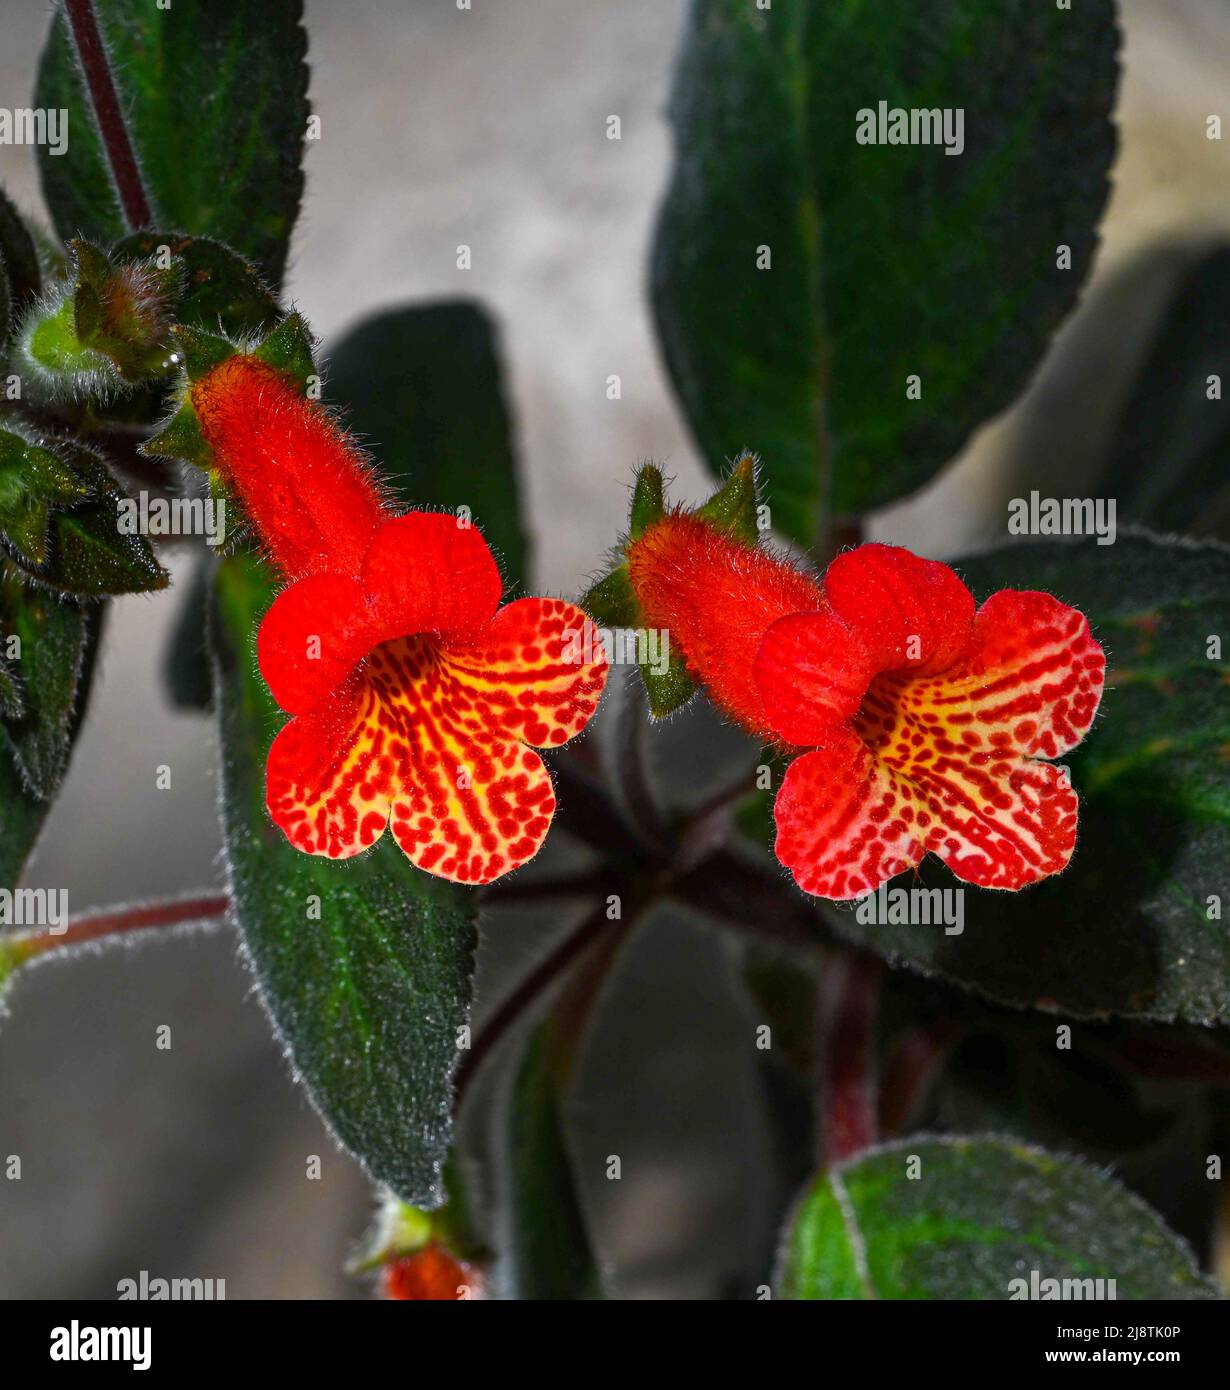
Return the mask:
<path id="1" fill-rule="evenodd" d="M 442 642 L 385 642 L 364 676 L 397 769 L 392 828 L 409 858 L 471 884 L 532 859 L 555 815 L 550 777 L 531 748 L 479 727 L 470 688 Z"/>

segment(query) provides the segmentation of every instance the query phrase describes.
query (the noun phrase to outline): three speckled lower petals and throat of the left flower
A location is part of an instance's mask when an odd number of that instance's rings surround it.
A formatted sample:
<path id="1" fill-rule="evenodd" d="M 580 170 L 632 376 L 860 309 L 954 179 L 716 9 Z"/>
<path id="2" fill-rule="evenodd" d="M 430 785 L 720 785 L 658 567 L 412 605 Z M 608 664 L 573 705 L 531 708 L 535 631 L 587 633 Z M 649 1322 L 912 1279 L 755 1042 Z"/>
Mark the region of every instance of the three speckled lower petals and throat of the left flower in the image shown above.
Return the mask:
<path id="1" fill-rule="evenodd" d="M 391 820 L 420 869 L 456 883 L 520 867 L 556 805 L 525 744 L 580 733 L 606 681 L 596 639 L 588 659 L 571 655 L 587 623 L 571 603 L 523 599 L 463 644 L 381 644 L 354 677 L 347 719 L 300 716 L 275 739 L 274 820 L 297 848 L 334 858 L 368 848 Z"/>

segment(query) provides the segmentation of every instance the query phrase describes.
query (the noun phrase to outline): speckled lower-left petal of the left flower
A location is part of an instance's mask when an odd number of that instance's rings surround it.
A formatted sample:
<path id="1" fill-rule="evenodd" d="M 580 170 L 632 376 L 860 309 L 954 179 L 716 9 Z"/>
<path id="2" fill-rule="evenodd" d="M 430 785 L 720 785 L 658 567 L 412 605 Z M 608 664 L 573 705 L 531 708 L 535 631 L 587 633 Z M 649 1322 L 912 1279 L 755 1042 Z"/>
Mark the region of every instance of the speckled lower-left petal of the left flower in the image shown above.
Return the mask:
<path id="1" fill-rule="evenodd" d="M 296 849 L 349 859 L 379 840 L 396 771 L 379 716 L 377 692 L 356 674 L 274 739 L 265 805 Z"/>

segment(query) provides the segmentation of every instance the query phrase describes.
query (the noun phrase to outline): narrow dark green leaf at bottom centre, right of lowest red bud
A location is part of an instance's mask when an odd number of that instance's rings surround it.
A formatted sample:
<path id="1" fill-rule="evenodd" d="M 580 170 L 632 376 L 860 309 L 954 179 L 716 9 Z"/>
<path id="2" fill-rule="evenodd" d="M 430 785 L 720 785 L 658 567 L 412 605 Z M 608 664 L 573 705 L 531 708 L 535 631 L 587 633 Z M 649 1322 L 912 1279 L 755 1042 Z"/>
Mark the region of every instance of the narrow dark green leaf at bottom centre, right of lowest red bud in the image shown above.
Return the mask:
<path id="1" fill-rule="evenodd" d="M 564 1140 L 552 1023 L 530 1038 L 509 1104 L 509 1268 L 516 1298 L 600 1298 L 602 1279 Z"/>

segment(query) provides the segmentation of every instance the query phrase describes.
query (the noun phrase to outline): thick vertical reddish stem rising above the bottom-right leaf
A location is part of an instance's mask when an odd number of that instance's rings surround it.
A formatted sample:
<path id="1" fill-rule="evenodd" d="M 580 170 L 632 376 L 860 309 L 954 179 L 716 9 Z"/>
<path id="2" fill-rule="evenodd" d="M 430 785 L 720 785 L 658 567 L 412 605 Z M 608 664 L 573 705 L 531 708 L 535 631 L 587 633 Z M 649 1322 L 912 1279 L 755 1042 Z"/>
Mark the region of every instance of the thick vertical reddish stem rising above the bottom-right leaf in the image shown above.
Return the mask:
<path id="1" fill-rule="evenodd" d="M 820 990 L 821 1161 L 841 1163 L 870 1148 L 876 1119 L 876 1008 L 880 962 L 863 952 L 833 958 Z"/>

